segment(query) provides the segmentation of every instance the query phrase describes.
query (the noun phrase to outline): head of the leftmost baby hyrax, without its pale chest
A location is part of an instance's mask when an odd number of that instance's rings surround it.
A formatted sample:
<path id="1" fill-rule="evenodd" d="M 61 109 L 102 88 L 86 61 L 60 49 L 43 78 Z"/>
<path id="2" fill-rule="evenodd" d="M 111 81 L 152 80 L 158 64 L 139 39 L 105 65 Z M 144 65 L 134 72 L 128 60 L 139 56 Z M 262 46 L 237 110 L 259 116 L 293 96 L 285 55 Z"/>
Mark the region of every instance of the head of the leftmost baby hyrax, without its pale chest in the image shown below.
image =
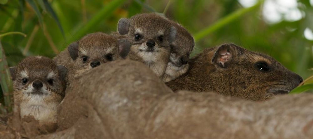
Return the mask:
<path id="1" fill-rule="evenodd" d="M 27 57 L 10 67 L 10 72 L 17 102 L 40 105 L 61 102 L 64 97 L 67 68 L 47 57 Z"/>

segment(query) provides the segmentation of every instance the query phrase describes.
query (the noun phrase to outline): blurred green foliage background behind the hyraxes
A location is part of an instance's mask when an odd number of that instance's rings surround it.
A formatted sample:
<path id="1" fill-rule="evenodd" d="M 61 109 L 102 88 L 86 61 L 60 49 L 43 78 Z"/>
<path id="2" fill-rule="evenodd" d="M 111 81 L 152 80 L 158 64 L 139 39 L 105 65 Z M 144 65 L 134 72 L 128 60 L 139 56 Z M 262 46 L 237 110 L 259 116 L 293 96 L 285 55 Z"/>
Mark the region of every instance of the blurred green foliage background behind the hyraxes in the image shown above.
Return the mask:
<path id="1" fill-rule="evenodd" d="M 233 42 L 307 78 L 313 73 L 312 5 L 313 0 L 0 0 L 0 34 L 27 34 L 1 38 L 14 66 L 27 56 L 52 58 L 88 33 L 116 31 L 122 17 L 164 12 L 195 36 L 192 56 Z"/>

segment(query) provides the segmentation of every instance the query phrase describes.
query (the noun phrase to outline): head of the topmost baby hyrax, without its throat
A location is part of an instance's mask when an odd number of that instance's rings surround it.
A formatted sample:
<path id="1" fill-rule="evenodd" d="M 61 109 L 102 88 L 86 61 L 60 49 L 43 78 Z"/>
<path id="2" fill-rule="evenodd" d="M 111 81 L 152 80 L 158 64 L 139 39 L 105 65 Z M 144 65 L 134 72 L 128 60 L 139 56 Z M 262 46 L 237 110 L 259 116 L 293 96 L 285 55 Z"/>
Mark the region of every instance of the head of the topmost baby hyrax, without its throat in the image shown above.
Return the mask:
<path id="1" fill-rule="evenodd" d="M 132 51 L 145 56 L 147 53 L 170 53 L 170 43 L 175 40 L 176 28 L 155 13 L 137 14 L 118 22 L 118 32 L 132 44 Z"/>

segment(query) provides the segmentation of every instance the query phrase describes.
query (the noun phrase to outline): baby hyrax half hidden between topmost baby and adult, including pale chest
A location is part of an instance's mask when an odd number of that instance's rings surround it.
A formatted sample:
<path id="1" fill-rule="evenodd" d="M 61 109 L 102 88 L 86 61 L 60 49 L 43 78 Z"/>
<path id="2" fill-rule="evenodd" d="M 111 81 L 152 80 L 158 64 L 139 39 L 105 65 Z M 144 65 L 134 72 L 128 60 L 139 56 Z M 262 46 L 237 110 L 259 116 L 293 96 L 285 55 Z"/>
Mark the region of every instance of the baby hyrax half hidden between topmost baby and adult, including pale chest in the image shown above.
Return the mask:
<path id="1" fill-rule="evenodd" d="M 170 22 L 176 27 L 177 35 L 175 41 L 171 43 L 172 52 L 163 76 L 164 82 L 169 82 L 187 72 L 189 55 L 195 46 L 192 35 L 184 27 L 174 21 Z"/>

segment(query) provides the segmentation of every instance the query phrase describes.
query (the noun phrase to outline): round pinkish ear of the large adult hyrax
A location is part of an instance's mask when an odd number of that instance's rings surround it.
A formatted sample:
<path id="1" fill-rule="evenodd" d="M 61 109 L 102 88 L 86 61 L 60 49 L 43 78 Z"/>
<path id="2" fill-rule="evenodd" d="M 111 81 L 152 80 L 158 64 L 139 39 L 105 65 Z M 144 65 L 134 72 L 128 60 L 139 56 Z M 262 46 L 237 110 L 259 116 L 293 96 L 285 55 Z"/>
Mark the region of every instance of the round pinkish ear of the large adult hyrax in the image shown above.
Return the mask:
<path id="1" fill-rule="evenodd" d="M 219 67 L 226 68 L 233 60 L 236 47 L 232 44 L 223 44 L 218 47 L 212 57 L 212 63 Z"/>

